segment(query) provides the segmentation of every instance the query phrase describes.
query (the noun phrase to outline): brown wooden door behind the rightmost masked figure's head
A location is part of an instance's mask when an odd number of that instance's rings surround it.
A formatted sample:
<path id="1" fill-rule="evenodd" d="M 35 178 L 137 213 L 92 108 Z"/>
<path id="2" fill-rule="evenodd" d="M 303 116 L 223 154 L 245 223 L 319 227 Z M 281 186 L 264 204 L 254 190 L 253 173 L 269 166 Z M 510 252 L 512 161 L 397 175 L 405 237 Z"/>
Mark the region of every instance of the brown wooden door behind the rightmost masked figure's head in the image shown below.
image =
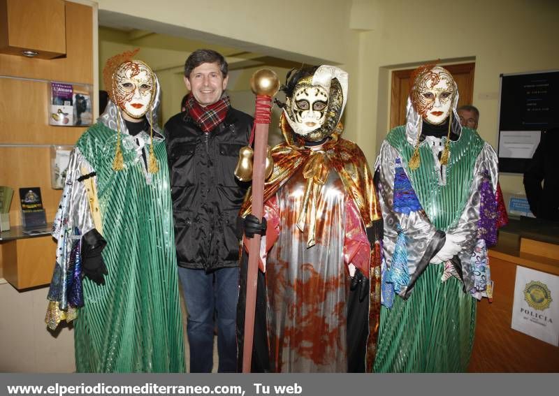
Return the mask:
<path id="1" fill-rule="evenodd" d="M 474 99 L 474 63 L 444 65 L 458 85 L 458 107 L 471 105 Z M 390 101 L 390 128 L 406 123 L 406 104 L 409 95 L 409 78 L 413 68 L 395 70 L 392 72 L 392 87 Z"/>

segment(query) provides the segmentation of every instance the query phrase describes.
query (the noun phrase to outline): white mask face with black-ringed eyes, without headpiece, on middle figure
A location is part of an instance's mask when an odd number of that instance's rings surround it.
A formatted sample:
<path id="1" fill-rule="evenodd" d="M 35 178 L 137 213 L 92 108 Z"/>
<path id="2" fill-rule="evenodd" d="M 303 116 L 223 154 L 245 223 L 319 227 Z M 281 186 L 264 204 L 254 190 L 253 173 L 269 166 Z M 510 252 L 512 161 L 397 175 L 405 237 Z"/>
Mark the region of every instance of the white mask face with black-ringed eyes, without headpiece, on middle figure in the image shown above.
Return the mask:
<path id="1" fill-rule="evenodd" d="M 328 92 L 326 89 L 313 87 L 300 87 L 293 93 L 291 111 L 296 128 L 293 129 L 299 135 L 319 129 L 326 119 L 328 109 Z"/>

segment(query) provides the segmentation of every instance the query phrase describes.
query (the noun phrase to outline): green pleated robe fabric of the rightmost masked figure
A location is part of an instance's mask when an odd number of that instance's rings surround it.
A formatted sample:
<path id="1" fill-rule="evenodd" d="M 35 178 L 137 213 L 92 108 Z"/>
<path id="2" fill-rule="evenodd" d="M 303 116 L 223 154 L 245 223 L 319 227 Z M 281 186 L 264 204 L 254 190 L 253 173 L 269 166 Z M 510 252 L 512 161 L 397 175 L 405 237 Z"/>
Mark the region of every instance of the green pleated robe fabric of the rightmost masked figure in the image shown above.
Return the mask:
<path id="1" fill-rule="evenodd" d="M 405 126 L 392 129 L 386 142 L 403 163 L 409 162 L 414 147 L 406 140 Z M 465 210 L 474 164 L 483 147 L 475 131 L 462 129 L 460 139 L 450 142 L 447 184 L 439 186 L 431 149 L 420 145 L 421 166 L 407 169 L 407 175 L 438 230 L 447 230 Z M 464 293 L 455 277 L 443 283 L 443 271 L 442 263 L 428 265 L 407 300 L 396 296 L 391 309 L 382 306 L 375 372 L 465 372 L 474 339 L 476 300 Z"/>

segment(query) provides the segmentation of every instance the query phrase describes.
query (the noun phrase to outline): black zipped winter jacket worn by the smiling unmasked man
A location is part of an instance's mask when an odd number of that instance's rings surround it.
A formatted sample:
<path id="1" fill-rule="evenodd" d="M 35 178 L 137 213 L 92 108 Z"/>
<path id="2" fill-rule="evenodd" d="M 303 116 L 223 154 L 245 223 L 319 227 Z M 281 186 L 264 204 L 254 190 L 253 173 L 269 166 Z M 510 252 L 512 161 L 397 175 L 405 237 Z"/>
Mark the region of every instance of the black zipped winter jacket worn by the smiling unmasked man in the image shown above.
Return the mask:
<path id="1" fill-rule="evenodd" d="M 206 272 L 238 266 L 235 235 L 248 183 L 233 172 L 248 144 L 252 117 L 230 108 L 222 124 L 204 133 L 187 112 L 165 124 L 177 263 Z"/>

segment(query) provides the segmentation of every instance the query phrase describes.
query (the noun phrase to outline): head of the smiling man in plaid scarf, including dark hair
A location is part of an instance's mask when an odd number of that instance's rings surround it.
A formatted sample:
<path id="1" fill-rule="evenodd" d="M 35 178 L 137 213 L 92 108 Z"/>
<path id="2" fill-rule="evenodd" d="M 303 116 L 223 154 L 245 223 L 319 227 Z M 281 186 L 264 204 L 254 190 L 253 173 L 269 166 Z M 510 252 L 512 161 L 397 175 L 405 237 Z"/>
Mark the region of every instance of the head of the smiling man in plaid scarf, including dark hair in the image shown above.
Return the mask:
<path id="1" fill-rule="evenodd" d="M 227 87 L 228 65 L 214 50 L 196 50 L 184 62 L 184 84 L 202 106 L 217 103 Z"/>

